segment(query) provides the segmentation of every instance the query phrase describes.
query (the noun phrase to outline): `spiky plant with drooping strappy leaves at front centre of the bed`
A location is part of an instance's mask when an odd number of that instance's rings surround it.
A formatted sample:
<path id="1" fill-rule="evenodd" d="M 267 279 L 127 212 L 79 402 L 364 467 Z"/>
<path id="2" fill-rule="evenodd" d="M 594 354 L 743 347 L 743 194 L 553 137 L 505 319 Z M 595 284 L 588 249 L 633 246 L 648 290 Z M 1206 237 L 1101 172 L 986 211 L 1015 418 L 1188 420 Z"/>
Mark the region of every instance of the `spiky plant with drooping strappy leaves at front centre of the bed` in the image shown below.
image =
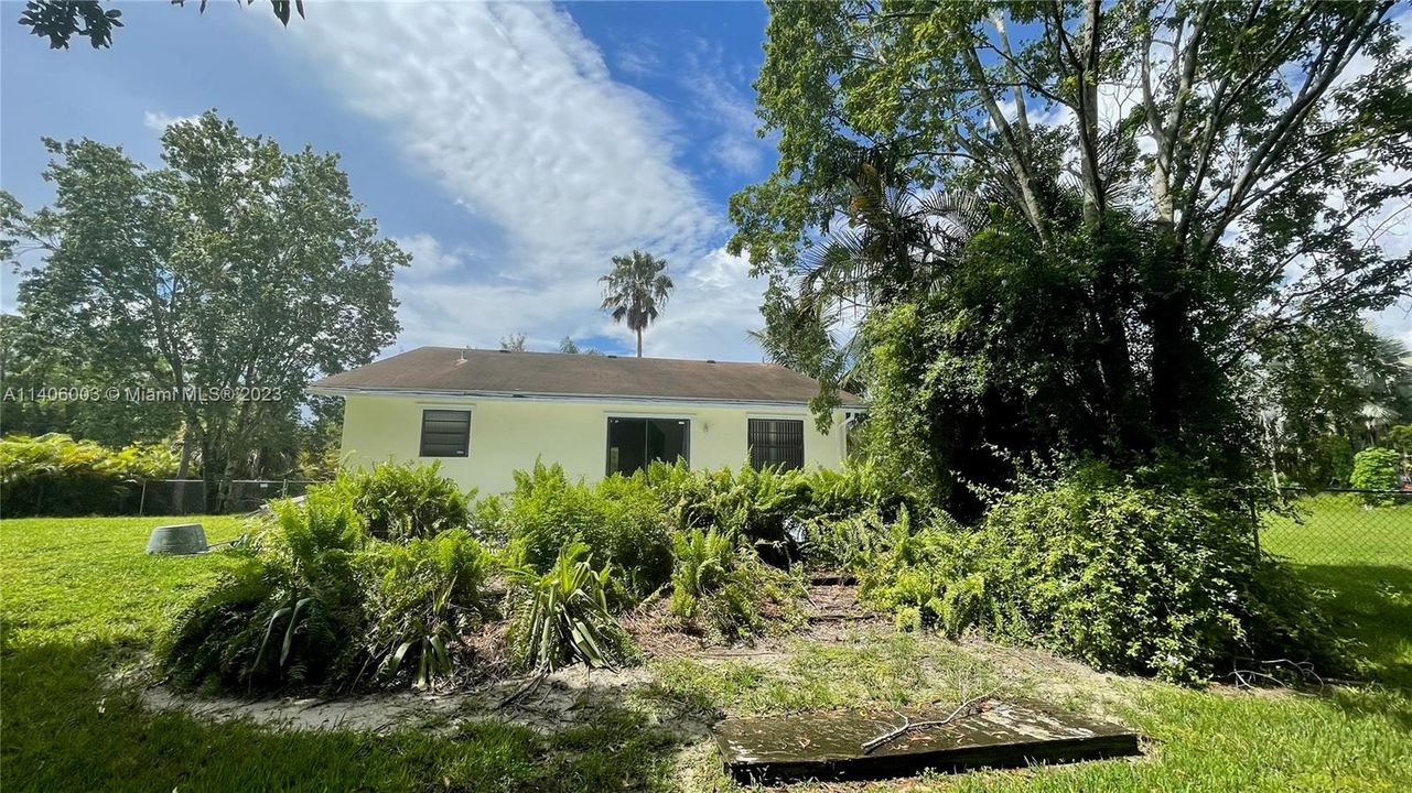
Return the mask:
<path id="1" fill-rule="evenodd" d="M 594 570 L 589 546 L 572 542 L 559 549 L 551 569 L 515 573 L 527 588 L 511 628 L 511 646 L 521 666 L 541 672 L 572 663 L 611 666 L 631 653 L 627 634 L 607 604 L 613 564 Z"/>

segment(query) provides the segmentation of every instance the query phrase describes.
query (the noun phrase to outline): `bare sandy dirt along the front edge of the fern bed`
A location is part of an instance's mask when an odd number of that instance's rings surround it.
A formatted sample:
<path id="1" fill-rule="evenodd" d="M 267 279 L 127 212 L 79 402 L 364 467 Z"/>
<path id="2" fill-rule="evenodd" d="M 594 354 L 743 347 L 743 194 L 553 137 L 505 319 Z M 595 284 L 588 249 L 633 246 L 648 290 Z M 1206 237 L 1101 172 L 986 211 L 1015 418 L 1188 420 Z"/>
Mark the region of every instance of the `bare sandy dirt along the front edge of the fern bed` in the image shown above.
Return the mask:
<path id="1" fill-rule="evenodd" d="M 816 584 L 808 597 L 809 624 L 791 634 L 760 636 L 750 642 L 723 643 L 705 635 L 688 634 L 681 621 L 666 612 L 664 601 L 647 604 L 623 618 L 624 628 L 642 650 L 644 660 L 689 658 L 702 663 L 748 662 L 767 667 L 788 667 L 810 645 L 870 643 L 894 634 L 891 622 L 858 604 L 857 587 L 849 583 Z M 504 658 L 505 625 L 487 626 L 477 636 L 477 655 Z M 936 642 L 936 658 L 969 656 L 977 666 L 994 669 L 1007 689 L 1028 691 L 1060 706 L 1094 715 L 1108 715 L 1130 704 L 1130 686 L 1118 676 L 1104 674 L 1042 650 L 994 645 L 981 639 Z M 929 646 L 929 645 L 928 645 Z M 932 649 L 925 650 L 932 655 Z M 484 670 L 481 670 L 484 672 Z M 199 718 L 249 718 L 260 724 L 295 730 L 360 730 L 387 732 L 401 725 L 452 728 L 457 724 L 496 721 L 555 731 L 592 724 L 624 708 L 675 737 L 692 741 L 706 735 L 712 715 L 693 708 L 640 696 L 652 686 L 647 666 L 620 670 L 573 667 L 544 677 L 508 676 L 505 665 L 493 665 L 491 674 L 463 683 L 446 693 L 380 693 L 343 698 L 201 697 L 157 686 L 143 694 L 147 707 L 181 710 Z"/>

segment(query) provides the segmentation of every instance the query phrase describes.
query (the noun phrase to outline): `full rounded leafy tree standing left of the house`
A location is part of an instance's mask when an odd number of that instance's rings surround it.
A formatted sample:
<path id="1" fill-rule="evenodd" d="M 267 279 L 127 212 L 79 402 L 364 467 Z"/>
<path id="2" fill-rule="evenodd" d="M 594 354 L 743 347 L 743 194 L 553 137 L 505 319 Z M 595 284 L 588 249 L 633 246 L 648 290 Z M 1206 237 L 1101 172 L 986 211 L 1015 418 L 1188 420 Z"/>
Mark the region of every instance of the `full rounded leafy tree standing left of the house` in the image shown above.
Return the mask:
<path id="1" fill-rule="evenodd" d="M 160 168 L 45 141 L 54 206 L 4 196 L 0 220 L 11 250 L 42 260 L 20 282 L 24 320 L 71 360 L 145 378 L 114 385 L 176 394 L 182 474 L 199 452 L 209 487 L 289 464 L 311 378 L 395 337 L 393 271 L 409 257 L 363 214 L 337 155 L 284 151 L 215 111 L 161 141 Z"/>

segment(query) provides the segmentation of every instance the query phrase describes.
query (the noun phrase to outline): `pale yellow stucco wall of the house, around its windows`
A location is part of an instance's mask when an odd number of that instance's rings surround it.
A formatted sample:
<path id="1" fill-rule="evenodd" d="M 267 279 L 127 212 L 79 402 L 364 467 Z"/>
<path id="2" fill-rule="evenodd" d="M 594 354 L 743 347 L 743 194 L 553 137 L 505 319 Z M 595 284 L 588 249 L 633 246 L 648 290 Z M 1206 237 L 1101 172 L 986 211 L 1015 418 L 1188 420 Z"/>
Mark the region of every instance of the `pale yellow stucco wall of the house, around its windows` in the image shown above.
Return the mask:
<path id="1" fill-rule="evenodd" d="M 535 457 L 559 463 L 575 477 L 603 478 L 607 466 L 609 416 L 690 419 L 693 468 L 740 467 L 748 460 L 746 420 L 751 418 L 803 419 L 805 466 L 839 467 L 844 452 L 843 413 L 834 416 L 829 435 L 815 428 L 808 408 L 760 408 L 675 404 L 554 402 L 538 399 L 438 399 L 426 396 L 346 398 L 343 457 L 366 467 L 385 460 L 418 460 L 424 409 L 469 409 L 470 454 L 426 457 L 462 487 L 481 494 L 514 485 L 511 471 L 534 466 Z"/>

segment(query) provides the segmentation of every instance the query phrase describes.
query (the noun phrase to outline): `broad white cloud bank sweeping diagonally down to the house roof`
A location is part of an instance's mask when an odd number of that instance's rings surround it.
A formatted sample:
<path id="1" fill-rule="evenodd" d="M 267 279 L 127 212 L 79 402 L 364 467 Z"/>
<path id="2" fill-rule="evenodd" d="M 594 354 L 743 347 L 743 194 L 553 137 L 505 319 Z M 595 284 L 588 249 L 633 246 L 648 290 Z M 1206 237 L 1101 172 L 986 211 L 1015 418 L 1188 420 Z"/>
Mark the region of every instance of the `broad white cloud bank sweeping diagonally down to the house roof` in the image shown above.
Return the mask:
<path id="1" fill-rule="evenodd" d="M 678 282 L 647 333 L 650 354 L 760 357 L 746 329 L 758 325 L 762 286 L 717 250 L 722 207 L 674 164 L 664 110 L 613 82 L 566 13 L 360 3 L 280 35 L 297 37 L 411 167 L 503 231 L 504 250 L 479 255 L 402 238 L 417 262 L 397 281 L 398 347 L 490 347 L 513 332 L 538 347 L 565 334 L 626 343 L 627 329 L 599 310 L 597 278 L 637 247 L 665 257 Z"/>

